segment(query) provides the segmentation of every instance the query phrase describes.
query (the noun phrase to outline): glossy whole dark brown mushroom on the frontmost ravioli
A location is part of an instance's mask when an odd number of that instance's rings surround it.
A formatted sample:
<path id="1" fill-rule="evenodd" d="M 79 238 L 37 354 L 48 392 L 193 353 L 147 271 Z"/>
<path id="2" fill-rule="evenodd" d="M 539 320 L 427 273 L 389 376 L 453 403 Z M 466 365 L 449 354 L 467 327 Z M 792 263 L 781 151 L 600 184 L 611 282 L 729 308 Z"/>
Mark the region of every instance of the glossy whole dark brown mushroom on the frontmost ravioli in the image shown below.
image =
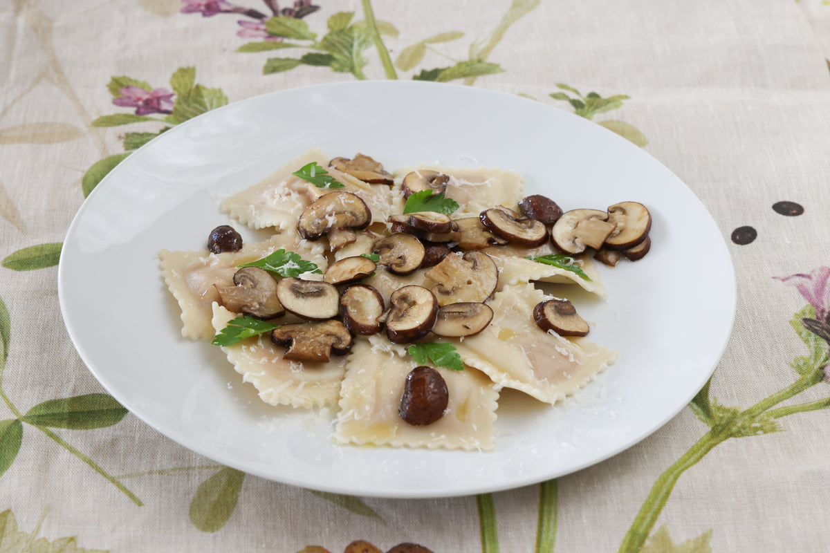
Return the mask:
<path id="1" fill-rule="evenodd" d="M 398 415 L 408 424 L 426 426 L 440 420 L 450 402 L 447 382 L 431 366 L 416 366 L 403 383 Z"/>

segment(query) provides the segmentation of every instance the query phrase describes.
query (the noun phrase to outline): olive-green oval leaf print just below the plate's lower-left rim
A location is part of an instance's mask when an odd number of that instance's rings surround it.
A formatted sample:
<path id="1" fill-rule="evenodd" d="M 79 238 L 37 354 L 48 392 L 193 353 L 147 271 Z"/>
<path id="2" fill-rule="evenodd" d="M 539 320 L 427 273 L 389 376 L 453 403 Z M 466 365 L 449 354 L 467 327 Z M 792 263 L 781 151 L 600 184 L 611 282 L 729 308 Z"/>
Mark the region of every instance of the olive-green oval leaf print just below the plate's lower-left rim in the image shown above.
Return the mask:
<path id="1" fill-rule="evenodd" d="M 224 467 L 201 483 L 190 502 L 190 521 L 203 532 L 222 530 L 237 507 L 245 473 Z"/>

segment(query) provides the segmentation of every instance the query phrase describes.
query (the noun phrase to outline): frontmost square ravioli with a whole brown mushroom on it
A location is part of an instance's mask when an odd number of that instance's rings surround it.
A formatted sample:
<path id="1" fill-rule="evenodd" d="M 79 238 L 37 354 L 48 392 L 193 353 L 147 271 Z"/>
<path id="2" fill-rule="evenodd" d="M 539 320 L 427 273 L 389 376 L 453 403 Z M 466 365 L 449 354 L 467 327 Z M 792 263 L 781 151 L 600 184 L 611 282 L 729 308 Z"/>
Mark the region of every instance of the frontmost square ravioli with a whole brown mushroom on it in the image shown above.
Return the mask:
<path id="1" fill-rule="evenodd" d="M 441 419 L 414 426 L 400 415 L 404 380 L 417 363 L 403 357 L 381 337 L 359 340 L 340 388 L 340 411 L 334 429 L 339 444 L 374 444 L 428 449 L 491 450 L 496 443 L 498 392 L 474 368 L 452 371 L 438 367 L 447 382 L 449 403 Z M 373 347 L 372 343 L 377 345 Z"/>

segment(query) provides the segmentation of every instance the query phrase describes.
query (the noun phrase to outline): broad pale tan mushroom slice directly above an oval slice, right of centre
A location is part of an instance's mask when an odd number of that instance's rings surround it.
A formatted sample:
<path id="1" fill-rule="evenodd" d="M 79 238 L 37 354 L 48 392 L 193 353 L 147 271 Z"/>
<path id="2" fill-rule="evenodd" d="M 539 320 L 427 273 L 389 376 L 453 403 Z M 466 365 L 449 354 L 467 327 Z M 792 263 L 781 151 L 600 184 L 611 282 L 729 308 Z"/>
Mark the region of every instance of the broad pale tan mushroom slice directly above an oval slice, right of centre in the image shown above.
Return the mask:
<path id="1" fill-rule="evenodd" d="M 464 302 L 483 302 L 496 291 L 499 269 L 496 262 L 481 251 L 464 255 L 447 255 L 441 263 L 424 274 L 438 284 L 432 293 L 439 305 Z"/>

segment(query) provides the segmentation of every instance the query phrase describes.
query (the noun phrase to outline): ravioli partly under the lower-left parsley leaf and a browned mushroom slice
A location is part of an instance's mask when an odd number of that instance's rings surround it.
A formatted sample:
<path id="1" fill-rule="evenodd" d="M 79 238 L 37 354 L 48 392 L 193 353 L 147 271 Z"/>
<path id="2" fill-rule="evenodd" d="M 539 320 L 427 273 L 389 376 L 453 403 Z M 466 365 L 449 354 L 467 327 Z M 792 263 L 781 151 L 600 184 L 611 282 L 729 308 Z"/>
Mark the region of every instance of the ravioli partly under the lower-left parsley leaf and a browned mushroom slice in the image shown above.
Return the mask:
<path id="1" fill-rule="evenodd" d="M 212 311 L 216 332 L 236 318 L 217 303 L 213 303 Z M 327 363 L 289 361 L 280 350 L 267 334 L 222 347 L 242 381 L 251 382 L 267 404 L 309 408 L 337 403 L 346 357 L 333 356 Z"/>

